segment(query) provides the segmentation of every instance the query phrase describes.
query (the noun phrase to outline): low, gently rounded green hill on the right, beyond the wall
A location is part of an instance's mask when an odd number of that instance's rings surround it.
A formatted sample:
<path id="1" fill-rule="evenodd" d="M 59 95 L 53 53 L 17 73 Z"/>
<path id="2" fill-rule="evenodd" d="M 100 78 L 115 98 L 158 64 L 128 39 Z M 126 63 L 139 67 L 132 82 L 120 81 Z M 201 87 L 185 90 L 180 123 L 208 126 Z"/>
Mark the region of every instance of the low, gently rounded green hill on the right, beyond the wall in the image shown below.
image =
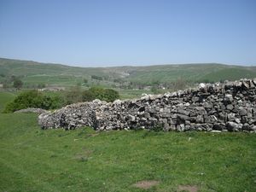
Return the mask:
<path id="1" fill-rule="evenodd" d="M 172 82 L 179 78 L 189 81 L 219 81 L 255 78 L 256 67 L 227 66 L 221 64 L 187 64 L 152 67 L 137 67 L 128 77 L 131 81 Z"/>

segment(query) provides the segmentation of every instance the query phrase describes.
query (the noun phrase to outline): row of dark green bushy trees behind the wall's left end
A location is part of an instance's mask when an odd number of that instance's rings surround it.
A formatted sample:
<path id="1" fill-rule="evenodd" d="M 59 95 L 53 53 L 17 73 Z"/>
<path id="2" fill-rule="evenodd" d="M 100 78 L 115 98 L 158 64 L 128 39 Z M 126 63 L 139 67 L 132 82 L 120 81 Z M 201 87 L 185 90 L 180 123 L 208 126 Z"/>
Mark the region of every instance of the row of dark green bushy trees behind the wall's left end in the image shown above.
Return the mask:
<path id="1" fill-rule="evenodd" d="M 43 108 L 49 110 L 76 102 L 90 102 L 94 99 L 113 102 L 118 98 L 118 91 L 99 87 L 81 90 L 77 86 L 65 91 L 64 94 L 54 96 L 45 95 L 38 90 L 26 90 L 16 96 L 13 102 L 9 102 L 3 112 L 12 113 L 22 108 Z"/>

